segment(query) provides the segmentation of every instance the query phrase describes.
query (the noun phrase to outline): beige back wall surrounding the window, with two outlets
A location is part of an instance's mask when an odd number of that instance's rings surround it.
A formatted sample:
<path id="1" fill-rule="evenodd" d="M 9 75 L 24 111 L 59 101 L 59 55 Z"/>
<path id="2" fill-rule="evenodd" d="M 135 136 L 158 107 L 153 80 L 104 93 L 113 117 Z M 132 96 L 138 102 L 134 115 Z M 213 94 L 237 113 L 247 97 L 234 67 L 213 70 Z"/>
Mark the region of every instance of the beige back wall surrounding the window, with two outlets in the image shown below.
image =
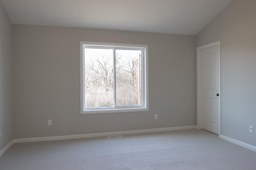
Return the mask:
<path id="1" fill-rule="evenodd" d="M 148 45 L 150 111 L 81 115 L 80 41 Z M 13 43 L 15 138 L 196 125 L 195 36 L 14 24 Z"/>

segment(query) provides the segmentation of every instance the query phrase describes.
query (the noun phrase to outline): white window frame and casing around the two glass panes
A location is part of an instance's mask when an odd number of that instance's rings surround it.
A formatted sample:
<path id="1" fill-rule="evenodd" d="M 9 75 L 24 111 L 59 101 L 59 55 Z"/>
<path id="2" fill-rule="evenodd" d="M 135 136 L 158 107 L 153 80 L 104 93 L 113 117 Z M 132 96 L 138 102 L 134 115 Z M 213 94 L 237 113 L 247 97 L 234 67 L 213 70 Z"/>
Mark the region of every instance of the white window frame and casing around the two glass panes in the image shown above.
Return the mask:
<path id="1" fill-rule="evenodd" d="M 142 51 L 142 104 L 140 106 L 113 106 L 113 107 L 85 107 L 85 78 L 84 78 L 84 48 L 85 47 L 113 47 L 116 49 L 143 49 Z M 122 43 L 99 43 L 80 41 L 80 112 L 81 114 L 92 113 L 119 113 L 149 111 L 148 104 L 148 45 L 122 44 Z"/>

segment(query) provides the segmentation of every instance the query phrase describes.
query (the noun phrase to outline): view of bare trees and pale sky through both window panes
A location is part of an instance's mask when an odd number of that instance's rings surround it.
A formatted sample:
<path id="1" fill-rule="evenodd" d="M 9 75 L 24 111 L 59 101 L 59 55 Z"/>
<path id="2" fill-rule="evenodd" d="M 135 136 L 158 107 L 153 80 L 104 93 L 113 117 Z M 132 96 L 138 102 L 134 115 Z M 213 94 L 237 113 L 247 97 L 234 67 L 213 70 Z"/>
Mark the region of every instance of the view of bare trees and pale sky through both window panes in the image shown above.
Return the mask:
<path id="1" fill-rule="evenodd" d="M 141 50 L 85 48 L 86 107 L 113 106 L 114 96 L 116 106 L 141 105 L 141 55 Z"/>

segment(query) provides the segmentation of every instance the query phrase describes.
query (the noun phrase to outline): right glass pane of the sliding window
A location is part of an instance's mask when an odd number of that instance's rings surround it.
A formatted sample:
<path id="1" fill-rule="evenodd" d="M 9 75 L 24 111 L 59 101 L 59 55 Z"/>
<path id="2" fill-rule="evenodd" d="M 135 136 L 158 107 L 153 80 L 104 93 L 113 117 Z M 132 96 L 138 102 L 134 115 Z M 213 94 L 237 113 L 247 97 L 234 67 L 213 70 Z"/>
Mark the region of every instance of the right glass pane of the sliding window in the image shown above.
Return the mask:
<path id="1" fill-rule="evenodd" d="M 141 105 L 141 51 L 116 50 L 116 106 Z"/>

